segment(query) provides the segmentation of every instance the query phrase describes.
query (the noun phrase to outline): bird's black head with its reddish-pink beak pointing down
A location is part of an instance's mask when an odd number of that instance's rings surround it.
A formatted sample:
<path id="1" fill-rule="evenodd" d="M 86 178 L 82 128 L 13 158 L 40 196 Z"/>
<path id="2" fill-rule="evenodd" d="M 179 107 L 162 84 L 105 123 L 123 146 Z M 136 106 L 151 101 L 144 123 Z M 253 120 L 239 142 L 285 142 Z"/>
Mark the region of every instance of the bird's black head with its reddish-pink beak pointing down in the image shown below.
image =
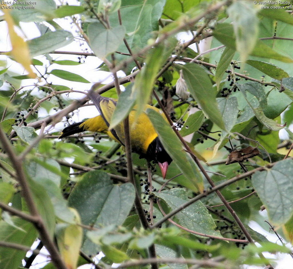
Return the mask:
<path id="1" fill-rule="evenodd" d="M 172 158 L 164 149 L 159 137 L 156 137 L 147 149 L 146 159 L 149 161 L 155 161 L 159 164 L 163 178 L 165 178 L 168 165 L 172 162 Z"/>

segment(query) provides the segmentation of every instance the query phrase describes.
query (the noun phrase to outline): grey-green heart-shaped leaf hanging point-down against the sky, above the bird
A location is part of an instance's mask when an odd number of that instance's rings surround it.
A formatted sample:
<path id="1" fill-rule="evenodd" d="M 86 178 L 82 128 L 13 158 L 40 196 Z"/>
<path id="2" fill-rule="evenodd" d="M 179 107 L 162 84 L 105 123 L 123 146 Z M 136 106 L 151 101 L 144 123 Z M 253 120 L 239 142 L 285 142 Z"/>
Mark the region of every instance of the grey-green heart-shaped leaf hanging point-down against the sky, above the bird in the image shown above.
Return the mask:
<path id="1" fill-rule="evenodd" d="M 88 25 L 88 38 L 93 52 L 100 59 L 115 52 L 125 37 L 125 27 L 117 25 L 111 29 L 105 29 L 101 23 Z"/>

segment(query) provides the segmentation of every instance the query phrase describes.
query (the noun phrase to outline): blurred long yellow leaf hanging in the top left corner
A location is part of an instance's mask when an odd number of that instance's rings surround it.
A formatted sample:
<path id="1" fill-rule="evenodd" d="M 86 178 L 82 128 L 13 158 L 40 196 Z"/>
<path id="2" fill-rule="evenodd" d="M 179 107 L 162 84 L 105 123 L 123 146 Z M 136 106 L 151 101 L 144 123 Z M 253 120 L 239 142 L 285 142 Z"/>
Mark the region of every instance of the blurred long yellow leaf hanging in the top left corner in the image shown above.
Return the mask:
<path id="1" fill-rule="evenodd" d="M 6 5 L 4 6 L 6 7 Z M 2 11 L 4 12 L 4 18 L 8 26 L 8 33 L 14 59 L 24 67 L 24 69 L 28 72 L 29 77 L 36 78 L 37 75 L 33 73 L 33 70 L 30 67 L 31 60 L 27 43 L 15 32 L 14 22 L 9 14 L 9 9 L 3 8 Z"/>

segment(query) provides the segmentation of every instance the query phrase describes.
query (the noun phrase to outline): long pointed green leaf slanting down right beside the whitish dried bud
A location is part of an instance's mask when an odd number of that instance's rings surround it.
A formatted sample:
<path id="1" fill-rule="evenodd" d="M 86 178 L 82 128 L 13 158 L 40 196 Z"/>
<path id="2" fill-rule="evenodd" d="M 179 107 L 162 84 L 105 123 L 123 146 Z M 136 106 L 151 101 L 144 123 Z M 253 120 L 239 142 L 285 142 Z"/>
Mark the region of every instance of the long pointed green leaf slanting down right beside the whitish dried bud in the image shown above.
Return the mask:
<path id="1" fill-rule="evenodd" d="M 200 104 L 207 118 L 224 130 L 225 124 L 216 101 L 216 92 L 205 70 L 193 63 L 183 65 L 182 70 L 190 93 Z"/>

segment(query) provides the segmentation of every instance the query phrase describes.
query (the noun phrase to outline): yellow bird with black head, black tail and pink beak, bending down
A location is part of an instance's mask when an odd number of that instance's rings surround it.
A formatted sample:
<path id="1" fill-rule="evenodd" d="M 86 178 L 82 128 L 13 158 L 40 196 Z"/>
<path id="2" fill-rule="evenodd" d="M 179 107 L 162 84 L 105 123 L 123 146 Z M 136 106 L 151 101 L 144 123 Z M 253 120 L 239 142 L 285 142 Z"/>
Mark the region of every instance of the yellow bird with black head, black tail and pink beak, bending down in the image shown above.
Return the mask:
<path id="1" fill-rule="evenodd" d="M 123 122 L 109 130 L 110 119 L 117 104 L 117 99 L 90 94 L 93 103 L 96 105 L 100 115 L 79 123 L 74 123 L 64 128 L 59 138 L 67 137 L 83 131 L 100 132 L 107 134 L 116 142 L 124 146 L 125 135 Z M 159 112 L 158 108 L 146 105 L 145 110 L 151 108 Z M 132 151 L 138 153 L 141 158 L 147 161 L 155 161 L 161 168 L 163 178 L 166 177 L 168 165 L 172 162 L 171 157 L 164 149 L 158 134 L 146 113 L 139 115 L 137 122 L 133 125 L 135 107 L 129 114 L 130 142 Z M 165 118 L 166 119 L 166 118 Z M 133 126 L 132 126 L 133 125 Z"/>

